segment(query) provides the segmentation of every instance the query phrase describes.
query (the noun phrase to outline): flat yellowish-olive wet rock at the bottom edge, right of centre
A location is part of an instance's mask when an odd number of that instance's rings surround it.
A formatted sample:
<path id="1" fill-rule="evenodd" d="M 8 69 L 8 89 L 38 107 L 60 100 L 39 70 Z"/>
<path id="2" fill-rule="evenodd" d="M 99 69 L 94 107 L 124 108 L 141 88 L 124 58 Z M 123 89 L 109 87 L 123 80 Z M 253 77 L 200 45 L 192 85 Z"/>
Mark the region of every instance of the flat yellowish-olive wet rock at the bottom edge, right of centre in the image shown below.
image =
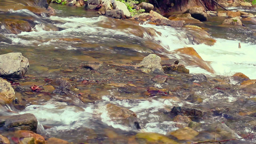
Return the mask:
<path id="1" fill-rule="evenodd" d="M 142 139 L 144 141 L 141 142 L 141 144 L 179 144 L 176 141 L 166 137 L 163 134 L 159 133 L 151 133 L 151 132 L 143 132 L 143 133 L 137 133 L 135 135 L 137 139 Z"/>

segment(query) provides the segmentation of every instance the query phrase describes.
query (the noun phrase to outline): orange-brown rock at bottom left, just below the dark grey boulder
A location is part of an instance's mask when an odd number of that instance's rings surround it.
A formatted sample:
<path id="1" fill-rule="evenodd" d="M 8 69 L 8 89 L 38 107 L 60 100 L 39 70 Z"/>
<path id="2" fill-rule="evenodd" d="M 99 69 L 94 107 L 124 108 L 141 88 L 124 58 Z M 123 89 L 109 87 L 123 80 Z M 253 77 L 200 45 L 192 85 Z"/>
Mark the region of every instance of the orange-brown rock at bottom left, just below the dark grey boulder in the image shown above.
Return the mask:
<path id="1" fill-rule="evenodd" d="M 15 137 L 13 138 L 17 138 L 19 140 L 19 144 L 46 144 L 46 141 L 43 136 L 32 131 L 25 131 L 25 130 L 15 131 Z M 33 143 L 28 143 L 28 142 L 33 142 Z"/>

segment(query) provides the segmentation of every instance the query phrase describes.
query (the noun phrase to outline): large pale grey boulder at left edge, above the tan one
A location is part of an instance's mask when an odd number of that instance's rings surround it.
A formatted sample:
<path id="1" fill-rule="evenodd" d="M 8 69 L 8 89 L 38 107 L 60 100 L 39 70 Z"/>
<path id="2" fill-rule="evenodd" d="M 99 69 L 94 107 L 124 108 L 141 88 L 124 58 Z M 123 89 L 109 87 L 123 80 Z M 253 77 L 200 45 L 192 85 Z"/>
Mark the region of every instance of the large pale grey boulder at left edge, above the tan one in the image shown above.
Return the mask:
<path id="1" fill-rule="evenodd" d="M 20 52 L 0 55 L 0 77 L 22 78 L 28 67 L 28 59 Z"/>

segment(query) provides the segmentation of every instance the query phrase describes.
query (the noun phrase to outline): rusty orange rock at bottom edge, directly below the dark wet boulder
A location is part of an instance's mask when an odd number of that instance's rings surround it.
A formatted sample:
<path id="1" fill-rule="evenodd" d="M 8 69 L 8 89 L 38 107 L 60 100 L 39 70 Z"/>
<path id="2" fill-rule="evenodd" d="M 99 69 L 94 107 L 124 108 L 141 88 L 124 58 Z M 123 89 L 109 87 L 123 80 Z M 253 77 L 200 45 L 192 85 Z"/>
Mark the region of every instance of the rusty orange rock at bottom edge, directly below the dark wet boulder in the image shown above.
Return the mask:
<path id="1" fill-rule="evenodd" d="M 33 137 L 35 144 L 46 144 L 45 138 L 42 135 L 39 135 L 32 131 L 24 131 L 24 130 L 15 131 L 15 137 L 18 137 L 18 138 Z M 20 144 L 23 144 L 23 143 L 20 143 Z"/>

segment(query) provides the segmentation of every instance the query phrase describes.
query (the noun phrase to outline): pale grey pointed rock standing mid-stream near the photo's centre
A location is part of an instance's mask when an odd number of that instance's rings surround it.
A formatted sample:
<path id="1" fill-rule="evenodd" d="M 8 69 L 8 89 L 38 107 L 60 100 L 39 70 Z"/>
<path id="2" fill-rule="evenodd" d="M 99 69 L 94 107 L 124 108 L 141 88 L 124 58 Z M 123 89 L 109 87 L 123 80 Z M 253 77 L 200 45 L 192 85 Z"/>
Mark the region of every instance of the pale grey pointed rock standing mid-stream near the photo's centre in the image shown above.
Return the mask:
<path id="1" fill-rule="evenodd" d="M 163 68 L 161 66 L 161 58 L 156 54 L 149 54 L 146 56 L 139 64 L 139 69 L 142 70 L 142 72 L 154 72 L 159 71 L 163 72 Z"/>

